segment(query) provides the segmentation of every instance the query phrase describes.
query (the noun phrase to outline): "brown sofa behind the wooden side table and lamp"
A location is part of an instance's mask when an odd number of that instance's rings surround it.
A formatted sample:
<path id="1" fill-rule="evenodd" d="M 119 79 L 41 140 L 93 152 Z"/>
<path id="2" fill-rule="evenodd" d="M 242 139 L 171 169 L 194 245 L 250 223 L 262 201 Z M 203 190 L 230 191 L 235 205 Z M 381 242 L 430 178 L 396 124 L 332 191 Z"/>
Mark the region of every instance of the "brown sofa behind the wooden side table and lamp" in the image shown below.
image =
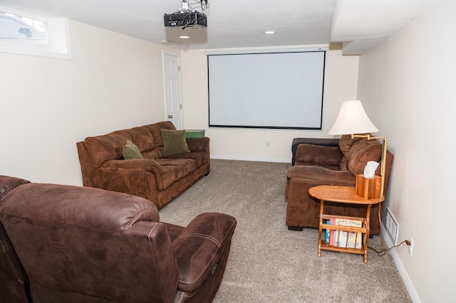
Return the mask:
<path id="1" fill-rule="evenodd" d="M 286 173 L 285 198 L 286 225 L 290 230 L 302 230 L 304 227 L 318 228 L 320 201 L 309 196 L 309 188 L 318 185 L 355 186 L 356 175 L 363 174 L 368 161 L 380 162 L 382 145 L 375 139 L 353 138 L 344 135 L 341 139 L 309 139 L 312 144 L 301 144 L 296 149 L 295 165 Z M 334 143 L 338 147 L 333 147 Z M 393 154 L 389 151 L 385 166 L 385 196 L 388 191 Z M 376 175 L 380 175 L 380 166 Z M 380 203 L 380 214 L 383 213 Z M 363 206 L 346 206 L 340 203 L 325 203 L 325 213 L 339 216 L 363 216 Z M 371 235 L 380 234 L 378 204 L 371 209 Z"/>

